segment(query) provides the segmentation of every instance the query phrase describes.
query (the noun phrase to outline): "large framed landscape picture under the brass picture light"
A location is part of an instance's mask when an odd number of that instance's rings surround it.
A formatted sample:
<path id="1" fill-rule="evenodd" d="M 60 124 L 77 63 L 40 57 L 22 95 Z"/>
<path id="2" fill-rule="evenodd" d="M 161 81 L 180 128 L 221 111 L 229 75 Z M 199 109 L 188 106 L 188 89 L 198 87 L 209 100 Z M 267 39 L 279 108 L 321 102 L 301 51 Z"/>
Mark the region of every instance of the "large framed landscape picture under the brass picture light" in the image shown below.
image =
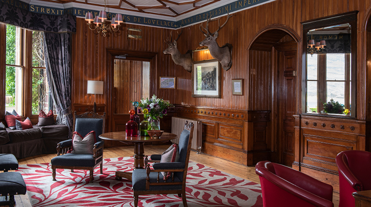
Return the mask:
<path id="1" fill-rule="evenodd" d="M 220 98 L 220 68 L 216 59 L 192 63 L 192 97 Z"/>

